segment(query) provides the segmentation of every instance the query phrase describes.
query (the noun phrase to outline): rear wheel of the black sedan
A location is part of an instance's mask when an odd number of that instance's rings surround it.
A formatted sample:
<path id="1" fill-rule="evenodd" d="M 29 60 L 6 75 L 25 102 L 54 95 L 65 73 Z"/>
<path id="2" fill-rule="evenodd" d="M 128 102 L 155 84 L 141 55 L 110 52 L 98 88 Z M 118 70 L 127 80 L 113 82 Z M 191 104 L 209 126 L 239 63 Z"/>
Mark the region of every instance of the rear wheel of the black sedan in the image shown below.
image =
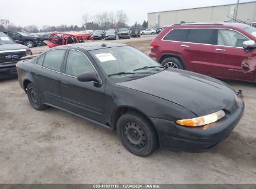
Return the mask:
<path id="1" fill-rule="evenodd" d="M 27 85 L 27 98 L 29 98 L 29 103 L 36 110 L 43 110 L 48 107 L 43 103 L 42 97 L 33 83 Z"/>

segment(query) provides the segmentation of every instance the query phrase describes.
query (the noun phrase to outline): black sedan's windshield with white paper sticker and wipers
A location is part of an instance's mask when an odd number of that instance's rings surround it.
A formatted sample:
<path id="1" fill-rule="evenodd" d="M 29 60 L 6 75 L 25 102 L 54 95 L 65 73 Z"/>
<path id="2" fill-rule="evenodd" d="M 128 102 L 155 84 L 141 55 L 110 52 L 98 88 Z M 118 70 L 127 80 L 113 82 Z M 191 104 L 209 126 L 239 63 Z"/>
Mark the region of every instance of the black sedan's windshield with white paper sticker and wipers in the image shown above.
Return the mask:
<path id="1" fill-rule="evenodd" d="M 111 78 L 135 78 L 165 69 L 145 53 L 130 46 L 92 50 L 90 54 Z"/>

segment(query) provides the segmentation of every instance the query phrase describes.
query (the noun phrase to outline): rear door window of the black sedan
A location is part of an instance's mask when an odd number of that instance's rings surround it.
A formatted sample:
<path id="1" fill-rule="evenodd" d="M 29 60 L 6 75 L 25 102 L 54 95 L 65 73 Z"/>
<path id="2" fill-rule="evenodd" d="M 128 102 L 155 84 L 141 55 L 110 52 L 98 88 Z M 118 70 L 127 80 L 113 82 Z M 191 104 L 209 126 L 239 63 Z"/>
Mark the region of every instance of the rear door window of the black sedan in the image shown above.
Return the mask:
<path id="1" fill-rule="evenodd" d="M 50 50 L 44 57 L 43 66 L 51 70 L 60 71 L 64 53 L 64 49 Z"/>

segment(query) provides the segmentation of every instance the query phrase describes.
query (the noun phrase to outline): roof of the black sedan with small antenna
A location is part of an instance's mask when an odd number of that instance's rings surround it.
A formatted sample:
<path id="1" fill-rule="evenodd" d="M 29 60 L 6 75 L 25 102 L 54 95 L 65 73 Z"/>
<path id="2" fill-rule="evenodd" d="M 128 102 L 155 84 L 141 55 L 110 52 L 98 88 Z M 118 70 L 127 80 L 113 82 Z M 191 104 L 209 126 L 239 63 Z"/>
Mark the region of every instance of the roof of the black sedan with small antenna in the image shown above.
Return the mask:
<path id="1" fill-rule="evenodd" d="M 102 43 L 102 42 L 85 42 L 85 43 L 77 43 L 77 44 L 69 44 L 69 45 L 60 45 L 54 48 L 83 48 L 84 50 L 98 50 L 103 48 L 111 48 L 111 47 L 123 47 L 123 46 L 129 46 L 126 44 L 119 44 L 119 43 Z"/>

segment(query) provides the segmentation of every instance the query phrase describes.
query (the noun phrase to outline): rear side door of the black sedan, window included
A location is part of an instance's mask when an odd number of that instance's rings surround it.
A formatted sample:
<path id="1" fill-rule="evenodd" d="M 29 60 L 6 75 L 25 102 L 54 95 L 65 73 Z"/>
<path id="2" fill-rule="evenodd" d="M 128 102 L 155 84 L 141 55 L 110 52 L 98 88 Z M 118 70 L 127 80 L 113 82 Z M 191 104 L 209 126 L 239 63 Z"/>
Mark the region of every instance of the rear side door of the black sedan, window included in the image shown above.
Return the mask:
<path id="1" fill-rule="evenodd" d="M 37 58 L 32 67 L 32 75 L 45 103 L 62 106 L 60 94 L 60 70 L 65 57 L 65 49 L 49 50 Z"/>

